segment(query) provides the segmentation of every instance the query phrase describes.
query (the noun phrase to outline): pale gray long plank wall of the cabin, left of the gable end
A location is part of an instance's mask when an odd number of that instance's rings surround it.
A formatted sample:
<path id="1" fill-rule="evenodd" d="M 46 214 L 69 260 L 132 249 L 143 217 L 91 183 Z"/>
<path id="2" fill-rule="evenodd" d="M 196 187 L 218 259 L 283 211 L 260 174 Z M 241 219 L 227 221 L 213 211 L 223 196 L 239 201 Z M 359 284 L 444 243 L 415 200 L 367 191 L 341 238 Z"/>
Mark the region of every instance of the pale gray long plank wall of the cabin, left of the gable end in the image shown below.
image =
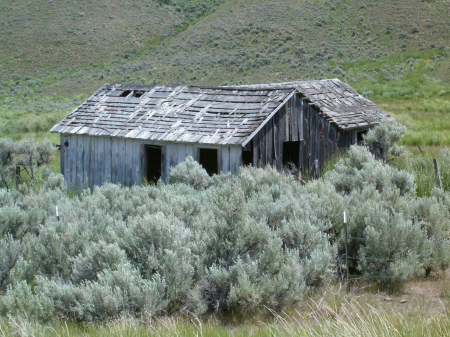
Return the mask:
<path id="1" fill-rule="evenodd" d="M 67 146 L 66 146 L 67 144 Z M 241 146 L 191 143 L 154 143 L 139 139 L 61 134 L 61 173 L 70 188 L 82 189 L 104 183 L 141 183 L 145 176 L 145 145 L 161 146 L 161 178 L 170 167 L 192 156 L 198 160 L 200 148 L 217 149 L 220 172 L 237 173 L 242 165 Z"/>

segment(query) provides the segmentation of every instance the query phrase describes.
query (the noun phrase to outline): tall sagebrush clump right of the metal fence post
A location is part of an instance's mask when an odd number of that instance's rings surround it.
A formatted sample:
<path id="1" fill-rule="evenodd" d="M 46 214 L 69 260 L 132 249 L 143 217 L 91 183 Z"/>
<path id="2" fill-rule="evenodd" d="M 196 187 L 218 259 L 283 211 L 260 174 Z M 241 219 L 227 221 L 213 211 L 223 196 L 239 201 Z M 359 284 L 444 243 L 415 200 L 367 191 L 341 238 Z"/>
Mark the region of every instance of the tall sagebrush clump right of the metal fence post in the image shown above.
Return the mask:
<path id="1" fill-rule="evenodd" d="M 351 147 L 324 179 L 333 184 L 345 205 L 333 207 L 341 214 L 333 226 L 340 236 L 341 254 L 342 213 L 348 214 L 352 273 L 391 287 L 439 270 L 439 262 L 446 265 L 450 250 L 445 192 L 417 198 L 411 174 L 376 160 L 359 146 Z"/>

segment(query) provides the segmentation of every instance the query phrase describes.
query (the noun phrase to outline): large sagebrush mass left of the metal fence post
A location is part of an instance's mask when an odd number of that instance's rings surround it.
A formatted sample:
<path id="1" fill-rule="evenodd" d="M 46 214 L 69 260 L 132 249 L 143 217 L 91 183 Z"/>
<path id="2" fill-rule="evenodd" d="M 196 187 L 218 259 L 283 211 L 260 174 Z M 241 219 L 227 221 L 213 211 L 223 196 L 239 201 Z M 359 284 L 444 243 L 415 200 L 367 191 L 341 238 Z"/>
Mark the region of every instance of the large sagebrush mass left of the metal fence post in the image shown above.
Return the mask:
<path id="1" fill-rule="evenodd" d="M 198 177 L 176 179 L 189 170 Z M 58 175 L 39 193 L 1 190 L 1 312 L 78 320 L 248 312 L 296 303 L 333 278 L 330 225 L 293 178 L 251 168 L 211 178 L 192 160 L 172 178 L 77 197 Z M 19 240 L 32 221 L 39 226 Z"/>

